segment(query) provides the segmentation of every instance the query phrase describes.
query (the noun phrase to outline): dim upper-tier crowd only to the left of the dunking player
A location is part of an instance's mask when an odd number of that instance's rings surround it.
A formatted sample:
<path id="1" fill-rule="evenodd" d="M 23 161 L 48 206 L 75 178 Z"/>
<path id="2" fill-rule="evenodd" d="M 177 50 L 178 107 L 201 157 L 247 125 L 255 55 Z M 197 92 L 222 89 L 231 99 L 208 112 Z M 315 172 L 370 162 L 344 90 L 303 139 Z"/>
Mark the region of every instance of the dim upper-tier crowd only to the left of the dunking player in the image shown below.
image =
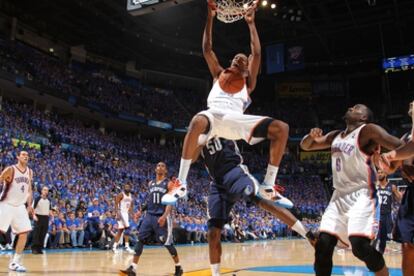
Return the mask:
<path id="1" fill-rule="evenodd" d="M 143 116 L 178 127 L 186 126 L 191 118 L 172 90 L 143 85 L 99 66 L 75 61 L 68 65 L 20 42 L 0 38 L 0 64 L 3 71 L 28 83 L 78 97 L 105 112 Z"/>

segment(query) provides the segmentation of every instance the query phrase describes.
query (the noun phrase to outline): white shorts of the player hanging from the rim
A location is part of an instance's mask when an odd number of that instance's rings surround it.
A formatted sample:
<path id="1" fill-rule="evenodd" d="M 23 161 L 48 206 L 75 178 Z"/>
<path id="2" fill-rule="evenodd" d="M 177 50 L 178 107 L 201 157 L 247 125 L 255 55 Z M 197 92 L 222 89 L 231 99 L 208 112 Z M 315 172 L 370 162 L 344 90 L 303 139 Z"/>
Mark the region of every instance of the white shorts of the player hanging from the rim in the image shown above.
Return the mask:
<path id="1" fill-rule="evenodd" d="M 201 111 L 197 115 L 204 115 L 210 121 L 210 131 L 199 140 L 199 144 L 204 144 L 212 137 L 220 137 L 228 140 L 244 140 L 254 145 L 265 138 L 253 137 L 253 131 L 263 120 L 269 118 L 265 116 L 246 115 L 239 113 L 221 113 L 211 109 Z"/>

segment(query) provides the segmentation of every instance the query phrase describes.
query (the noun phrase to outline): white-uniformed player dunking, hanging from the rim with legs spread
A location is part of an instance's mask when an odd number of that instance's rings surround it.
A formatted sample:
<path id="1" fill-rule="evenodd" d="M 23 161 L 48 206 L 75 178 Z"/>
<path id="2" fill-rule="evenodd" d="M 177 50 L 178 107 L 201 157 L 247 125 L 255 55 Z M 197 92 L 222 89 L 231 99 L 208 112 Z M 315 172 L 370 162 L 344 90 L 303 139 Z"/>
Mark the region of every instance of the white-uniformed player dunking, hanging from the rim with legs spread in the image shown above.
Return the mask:
<path id="1" fill-rule="evenodd" d="M 198 147 L 200 135 L 205 141 L 212 137 L 221 137 L 229 140 L 243 139 L 249 144 L 256 144 L 265 139 L 270 140 L 270 160 L 267 167 L 264 185 L 260 192 L 263 196 L 272 190 L 275 184 L 279 164 L 282 159 L 289 135 L 289 126 L 270 117 L 243 114 L 251 103 L 250 94 L 256 87 L 257 75 L 261 61 L 261 46 L 255 25 L 255 9 L 257 2 L 246 11 L 245 21 L 250 31 L 251 54 L 249 58 L 244 54 L 237 54 L 230 67 L 224 69 L 212 46 L 213 20 L 216 15 L 214 2 L 209 1 L 207 23 L 203 35 L 203 54 L 210 73 L 213 77 L 213 87 L 207 98 L 208 110 L 194 116 L 188 133 L 184 139 L 181 156 L 180 171 L 172 193 L 163 197 L 164 204 L 175 204 L 179 197 L 187 193 L 186 180 L 192 157 Z M 235 80 L 221 82 L 224 76 L 241 76 L 243 85 L 239 91 L 228 93 L 225 86 L 232 86 Z"/>

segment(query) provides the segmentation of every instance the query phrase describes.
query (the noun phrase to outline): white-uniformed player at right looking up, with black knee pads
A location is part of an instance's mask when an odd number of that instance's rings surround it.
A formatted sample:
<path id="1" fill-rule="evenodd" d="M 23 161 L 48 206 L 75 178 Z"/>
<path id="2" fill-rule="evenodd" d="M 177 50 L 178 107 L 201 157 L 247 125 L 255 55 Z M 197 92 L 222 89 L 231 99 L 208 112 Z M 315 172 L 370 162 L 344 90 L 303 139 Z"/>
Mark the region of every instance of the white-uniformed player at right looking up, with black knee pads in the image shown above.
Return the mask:
<path id="1" fill-rule="evenodd" d="M 384 258 L 371 245 L 378 227 L 373 155 L 378 146 L 395 149 L 401 141 L 371 124 L 372 112 L 362 104 L 348 109 L 346 129 L 326 135 L 314 128 L 302 139 L 303 150 L 331 149 L 335 191 L 325 210 L 316 243 L 314 269 L 317 276 L 331 275 L 334 248 L 341 240 L 375 275 L 388 276 Z"/>

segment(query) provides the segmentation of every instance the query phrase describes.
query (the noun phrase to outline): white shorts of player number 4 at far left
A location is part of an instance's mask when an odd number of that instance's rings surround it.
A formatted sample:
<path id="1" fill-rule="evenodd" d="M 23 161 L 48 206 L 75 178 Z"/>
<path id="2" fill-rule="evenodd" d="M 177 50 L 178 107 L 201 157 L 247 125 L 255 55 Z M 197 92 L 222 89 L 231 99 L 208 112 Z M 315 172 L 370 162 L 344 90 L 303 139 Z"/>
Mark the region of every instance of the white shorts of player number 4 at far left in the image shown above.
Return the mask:
<path id="1" fill-rule="evenodd" d="M 24 205 L 13 206 L 0 202 L 0 231 L 7 232 L 10 226 L 15 234 L 32 230 L 29 214 Z"/>

